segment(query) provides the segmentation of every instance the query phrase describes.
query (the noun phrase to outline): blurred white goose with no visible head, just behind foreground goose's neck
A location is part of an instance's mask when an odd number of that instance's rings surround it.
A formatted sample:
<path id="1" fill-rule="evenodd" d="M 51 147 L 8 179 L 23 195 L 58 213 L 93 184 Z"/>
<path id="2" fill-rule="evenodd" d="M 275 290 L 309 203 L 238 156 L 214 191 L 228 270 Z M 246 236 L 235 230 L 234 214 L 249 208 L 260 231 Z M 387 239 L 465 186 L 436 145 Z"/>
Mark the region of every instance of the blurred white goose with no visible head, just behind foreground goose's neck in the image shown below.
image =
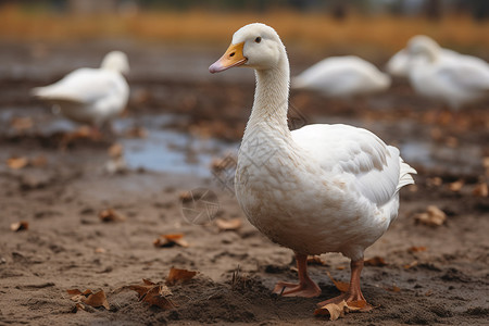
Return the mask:
<path id="1" fill-rule="evenodd" d="M 294 89 L 311 89 L 329 98 L 353 98 L 389 88 L 390 77 L 372 63 L 355 57 L 331 57 L 292 78 Z"/>

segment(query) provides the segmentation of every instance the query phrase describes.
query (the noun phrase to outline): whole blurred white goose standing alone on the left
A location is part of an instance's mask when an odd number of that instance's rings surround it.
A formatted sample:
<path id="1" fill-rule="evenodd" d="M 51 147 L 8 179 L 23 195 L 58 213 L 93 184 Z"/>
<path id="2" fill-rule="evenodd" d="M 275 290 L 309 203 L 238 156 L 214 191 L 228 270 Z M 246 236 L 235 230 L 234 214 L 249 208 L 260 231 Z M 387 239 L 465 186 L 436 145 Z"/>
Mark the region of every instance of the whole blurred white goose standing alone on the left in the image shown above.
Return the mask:
<path id="1" fill-rule="evenodd" d="M 63 79 L 33 89 L 33 95 L 54 104 L 63 115 L 100 127 L 120 114 L 129 98 L 129 86 L 122 75 L 128 73 L 125 53 L 112 51 L 100 68 L 78 68 Z"/>

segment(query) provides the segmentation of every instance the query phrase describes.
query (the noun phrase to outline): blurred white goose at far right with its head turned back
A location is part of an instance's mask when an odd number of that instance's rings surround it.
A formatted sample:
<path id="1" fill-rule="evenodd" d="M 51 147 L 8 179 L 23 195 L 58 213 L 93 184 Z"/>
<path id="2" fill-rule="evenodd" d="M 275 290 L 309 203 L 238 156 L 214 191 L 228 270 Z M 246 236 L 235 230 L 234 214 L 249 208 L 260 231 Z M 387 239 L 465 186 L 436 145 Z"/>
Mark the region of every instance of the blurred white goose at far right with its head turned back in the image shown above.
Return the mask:
<path id="1" fill-rule="evenodd" d="M 489 64 L 467 55 L 447 58 L 430 38 L 416 36 L 408 43 L 409 79 L 421 96 L 451 109 L 489 97 Z"/>

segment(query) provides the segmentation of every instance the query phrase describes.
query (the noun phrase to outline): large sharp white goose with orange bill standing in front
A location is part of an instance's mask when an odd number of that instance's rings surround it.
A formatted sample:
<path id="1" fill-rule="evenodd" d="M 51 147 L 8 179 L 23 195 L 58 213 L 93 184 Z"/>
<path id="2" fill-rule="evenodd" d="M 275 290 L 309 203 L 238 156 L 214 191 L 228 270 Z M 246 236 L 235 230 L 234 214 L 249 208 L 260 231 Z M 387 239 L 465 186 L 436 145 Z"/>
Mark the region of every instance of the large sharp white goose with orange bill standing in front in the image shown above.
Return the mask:
<path id="1" fill-rule="evenodd" d="M 299 284 L 278 283 L 276 293 L 316 297 L 308 254 L 341 252 L 351 259 L 349 290 L 319 304 L 364 302 L 360 289 L 363 252 L 398 215 L 399 190 L 416 173 L 399 150 L 368 130 L 315 124 L 287 126 L 289 62 L 277 33 L 250 24 L 233 36 L 211 73 L 254 68 L 256 90 L 235 176 L 246 216 L 272 241 L 292 249 Z"/>

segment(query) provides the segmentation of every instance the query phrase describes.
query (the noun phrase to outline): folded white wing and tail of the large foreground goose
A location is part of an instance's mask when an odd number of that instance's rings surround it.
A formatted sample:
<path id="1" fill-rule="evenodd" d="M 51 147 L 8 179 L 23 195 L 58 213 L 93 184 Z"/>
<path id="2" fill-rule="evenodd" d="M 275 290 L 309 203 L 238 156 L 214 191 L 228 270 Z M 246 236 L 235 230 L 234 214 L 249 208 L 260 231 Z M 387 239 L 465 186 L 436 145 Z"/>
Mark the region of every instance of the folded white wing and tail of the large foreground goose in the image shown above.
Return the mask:
<path id="1" fill-rule="evenodd" d="M 321 166 L 335 174 L 352 174 L 359 191 L 378 206 L 400 187 L 412 184 L 399 150 L 373 133 L 348 125 L 309 125 L 292 131 L 293 140 L 309 150 Z"/>

